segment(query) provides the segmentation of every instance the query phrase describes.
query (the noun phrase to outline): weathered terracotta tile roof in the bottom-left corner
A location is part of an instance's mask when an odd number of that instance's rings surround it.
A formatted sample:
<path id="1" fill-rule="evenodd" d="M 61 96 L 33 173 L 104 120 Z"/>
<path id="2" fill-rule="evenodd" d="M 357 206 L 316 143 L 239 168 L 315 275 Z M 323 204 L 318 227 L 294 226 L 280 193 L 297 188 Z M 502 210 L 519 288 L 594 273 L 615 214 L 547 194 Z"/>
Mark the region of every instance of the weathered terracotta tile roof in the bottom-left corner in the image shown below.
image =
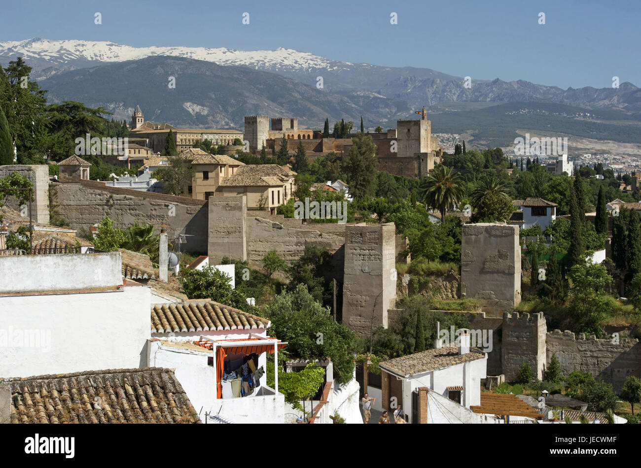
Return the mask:
<path id="1" fill-rule="evenodd" d="M 108 369 L 6 382 L 14 424 L 200 422 L 170 369 Z"/>

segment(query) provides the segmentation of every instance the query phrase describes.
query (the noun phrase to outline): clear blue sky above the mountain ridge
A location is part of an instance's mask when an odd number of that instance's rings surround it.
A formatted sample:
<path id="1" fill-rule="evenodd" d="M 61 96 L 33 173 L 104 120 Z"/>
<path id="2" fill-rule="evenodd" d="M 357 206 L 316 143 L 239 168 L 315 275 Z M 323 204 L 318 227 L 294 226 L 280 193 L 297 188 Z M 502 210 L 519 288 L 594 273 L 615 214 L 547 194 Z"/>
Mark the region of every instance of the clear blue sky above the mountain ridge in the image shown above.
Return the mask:
<path id="1" fill-rule="evenodd" d="M 187 15 L 180 16 L 179 7 Z M 613 76 L 641 86 L 638 0 L 20 0 L 0 8 L 0 41 L 285 47 L 333 60 L 563 89 L 609 87 Z M 94 24 L 95 12 L 103 24 Z M 242 24 L 244 12 L 249 25 Z M 538 24 L 540 12 L 545 24 Z"/>

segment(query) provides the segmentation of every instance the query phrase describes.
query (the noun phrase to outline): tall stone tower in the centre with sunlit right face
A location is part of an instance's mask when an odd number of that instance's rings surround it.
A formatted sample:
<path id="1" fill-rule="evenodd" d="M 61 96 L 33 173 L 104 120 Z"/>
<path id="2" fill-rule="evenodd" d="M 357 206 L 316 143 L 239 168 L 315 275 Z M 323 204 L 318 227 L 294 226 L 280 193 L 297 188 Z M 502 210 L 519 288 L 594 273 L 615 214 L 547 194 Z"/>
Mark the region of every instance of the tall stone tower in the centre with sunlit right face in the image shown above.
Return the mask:
<path id="1" fill-rule="evenodd" d="M 343 323 L 357 335 L 369 335 L 372 325 L 388 326 L 396 300 L 394 233 L 394 223 L 345 230 Z"/>

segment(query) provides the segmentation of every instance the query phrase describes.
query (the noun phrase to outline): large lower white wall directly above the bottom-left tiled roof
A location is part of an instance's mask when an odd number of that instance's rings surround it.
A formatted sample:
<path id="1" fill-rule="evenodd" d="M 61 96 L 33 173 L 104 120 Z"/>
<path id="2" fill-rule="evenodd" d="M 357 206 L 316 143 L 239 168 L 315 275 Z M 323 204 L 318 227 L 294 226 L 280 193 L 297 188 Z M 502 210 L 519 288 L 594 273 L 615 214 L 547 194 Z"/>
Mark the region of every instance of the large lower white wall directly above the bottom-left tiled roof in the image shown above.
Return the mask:
<path id="1" fill-rule="evenodd" d="M 144 286 L 0 296 L 0 376 L 140 367 L 151 325 L 149 298 Z M 35 337 L 39 343 L 28 343 Z"/>

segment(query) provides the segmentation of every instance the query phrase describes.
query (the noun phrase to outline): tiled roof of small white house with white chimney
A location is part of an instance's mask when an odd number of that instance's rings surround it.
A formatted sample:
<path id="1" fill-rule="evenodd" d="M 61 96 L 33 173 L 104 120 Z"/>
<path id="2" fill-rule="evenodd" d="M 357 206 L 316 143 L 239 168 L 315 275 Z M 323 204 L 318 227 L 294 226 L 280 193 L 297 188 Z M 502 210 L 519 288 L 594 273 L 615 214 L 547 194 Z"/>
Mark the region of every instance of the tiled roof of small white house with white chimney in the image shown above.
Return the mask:
<path id="1" fill-rule="evenodd" d="M 458 347 L 443 346 L 442 348 L 434 348 L 433 350 L 386 360 L 381 362 L 379 367 L 395 375 L 409 376 L 484 358 L 485 353 L 478 348 L 470 348 L 469 353 L 459 355 Z"/>

